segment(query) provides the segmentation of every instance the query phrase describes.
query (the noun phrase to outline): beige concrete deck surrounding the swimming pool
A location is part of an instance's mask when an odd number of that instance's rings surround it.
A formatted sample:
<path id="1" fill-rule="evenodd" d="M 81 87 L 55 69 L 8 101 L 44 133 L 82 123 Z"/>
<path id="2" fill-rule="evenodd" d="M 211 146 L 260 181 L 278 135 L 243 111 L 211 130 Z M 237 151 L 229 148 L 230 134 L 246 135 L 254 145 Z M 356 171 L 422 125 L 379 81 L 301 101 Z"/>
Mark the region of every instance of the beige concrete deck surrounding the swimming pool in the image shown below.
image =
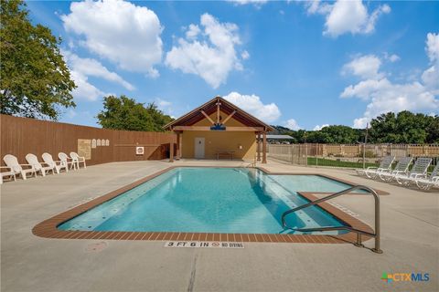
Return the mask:
<path id="1" fill-rule="evenodd" d="M 380 196 L 381 249 L 354 245 L 245 243 L 244 249 L 165 248 L 161 241 L 50 239 L 32 228 L 91 198 L 166 169 L 168 162 L 114 162 L 1 186 L 2 291 L 382 291 L 439 289 L 439 193 L 359 178 L 350 170 L 278 162 L 271 172 L 331 175 L 390 193 Z M 180 161 L 172 165 L 243 166 Z M 333 202 L 373 226 L 371 196 Z M 100 244 L 100 245 L 95 245 Z M 373 246 L 373 240 L 365 245 Z M 93 248 L 94 247 L 94 248 Z M 429 273 L 394 282 L 382 273 Z"/>

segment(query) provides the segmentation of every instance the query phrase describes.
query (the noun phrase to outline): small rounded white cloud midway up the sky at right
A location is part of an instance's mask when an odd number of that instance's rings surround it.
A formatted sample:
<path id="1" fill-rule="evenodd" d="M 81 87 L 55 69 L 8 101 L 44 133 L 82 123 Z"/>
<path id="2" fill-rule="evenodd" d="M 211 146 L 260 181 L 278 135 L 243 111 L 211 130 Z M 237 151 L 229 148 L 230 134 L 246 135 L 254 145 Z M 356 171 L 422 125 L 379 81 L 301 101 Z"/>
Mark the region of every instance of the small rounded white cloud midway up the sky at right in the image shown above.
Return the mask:
<path id="1" fill-rule="evenodd" d="M 374 55 L 366 55 L 354 58 L 348 64 L 343 66 L 343 74 L 353 74 L 360 78 L 381 78 L 379 73 L 381 61 Z"/>

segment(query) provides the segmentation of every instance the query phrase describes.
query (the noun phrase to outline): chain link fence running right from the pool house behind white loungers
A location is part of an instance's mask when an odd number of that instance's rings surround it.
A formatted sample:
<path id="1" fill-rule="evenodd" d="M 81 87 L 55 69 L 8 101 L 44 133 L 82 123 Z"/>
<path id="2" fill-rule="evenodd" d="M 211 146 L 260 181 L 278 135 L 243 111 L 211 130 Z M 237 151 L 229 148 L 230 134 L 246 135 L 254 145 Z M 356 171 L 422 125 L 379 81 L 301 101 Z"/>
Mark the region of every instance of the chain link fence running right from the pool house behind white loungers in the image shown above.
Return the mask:
<path id="1" fill-rule="evenodd" d="M 433 170 L 439 162 L 439 144 L 269 144 L 267 155 L 297 165 L 348 168 L 378 166 L 387 155 L 397 161 L 406 156 L 431 157 Z"/>

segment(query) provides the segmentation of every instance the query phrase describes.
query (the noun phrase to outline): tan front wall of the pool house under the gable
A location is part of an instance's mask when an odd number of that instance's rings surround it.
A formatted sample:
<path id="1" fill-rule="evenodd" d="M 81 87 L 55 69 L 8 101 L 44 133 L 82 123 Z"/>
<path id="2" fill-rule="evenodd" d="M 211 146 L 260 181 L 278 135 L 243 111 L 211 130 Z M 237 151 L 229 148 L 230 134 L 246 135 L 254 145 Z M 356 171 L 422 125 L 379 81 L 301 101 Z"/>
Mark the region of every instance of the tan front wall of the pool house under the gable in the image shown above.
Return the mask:
<path id="1" fill-rule="evenodd" d="M 227 114 L 221 112 L 222 119 L 226 119 Z M 210 115 L 212 120 L 217 120 L 217 114 Z M 198 121 L 194 126 L 211 126 L 209 120 Z M 238 120 L 231 118 L 227 121 L 226 127 L 245 127 Z M 206 130 L 183 131 L 181 135 L 181 154 L 183 158 L 194 158 L 195 138 L 205 139 L 205 158 L 216 159 L 217 151 L 235 151 L 233 158 L 252 160 L 256 153 L 256 136 L 254 131 L 221 131 Z M 240 150 L 240 145 L 242 149 Z"/>

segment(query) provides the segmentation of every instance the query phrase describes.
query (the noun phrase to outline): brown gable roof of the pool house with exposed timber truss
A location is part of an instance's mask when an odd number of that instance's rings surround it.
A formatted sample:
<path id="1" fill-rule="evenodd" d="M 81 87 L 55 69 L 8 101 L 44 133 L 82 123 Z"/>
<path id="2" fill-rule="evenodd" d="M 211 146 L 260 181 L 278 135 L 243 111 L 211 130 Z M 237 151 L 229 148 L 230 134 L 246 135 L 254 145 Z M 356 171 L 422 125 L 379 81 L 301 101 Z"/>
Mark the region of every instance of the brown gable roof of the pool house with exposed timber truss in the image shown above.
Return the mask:
<path id="1" fill-rule="evenodd" d="M 230 101 L 221 97 L 210 99 L 208 102 L 199 106 L 197 109 L 191 110 L 177 120 L 173 120 L 170 123 L 166 124 L 163 129 L 172 130 L 172 128 L 175 126 L 192 126 L 199 120 L 206 119 L 206 117 L 201 113 L 201 110 L 203 110 L 207 115 L 211 115 L 212 113 L 214 113 L 217 110 L 217 102 L 220 102 L 221 104 L 219 110 L 224 112 L 225 114 L 230 115 L 230 113 L 236 111 L 232 119 L 238 120 L 245 126 L 263 127 L 267 131 L 274 130 L 273 127 L 269 124 L 266 124 L 262 120 L 255 118 L 250 113 L 246 112 L 245 110 L 241 110 Z"/>

